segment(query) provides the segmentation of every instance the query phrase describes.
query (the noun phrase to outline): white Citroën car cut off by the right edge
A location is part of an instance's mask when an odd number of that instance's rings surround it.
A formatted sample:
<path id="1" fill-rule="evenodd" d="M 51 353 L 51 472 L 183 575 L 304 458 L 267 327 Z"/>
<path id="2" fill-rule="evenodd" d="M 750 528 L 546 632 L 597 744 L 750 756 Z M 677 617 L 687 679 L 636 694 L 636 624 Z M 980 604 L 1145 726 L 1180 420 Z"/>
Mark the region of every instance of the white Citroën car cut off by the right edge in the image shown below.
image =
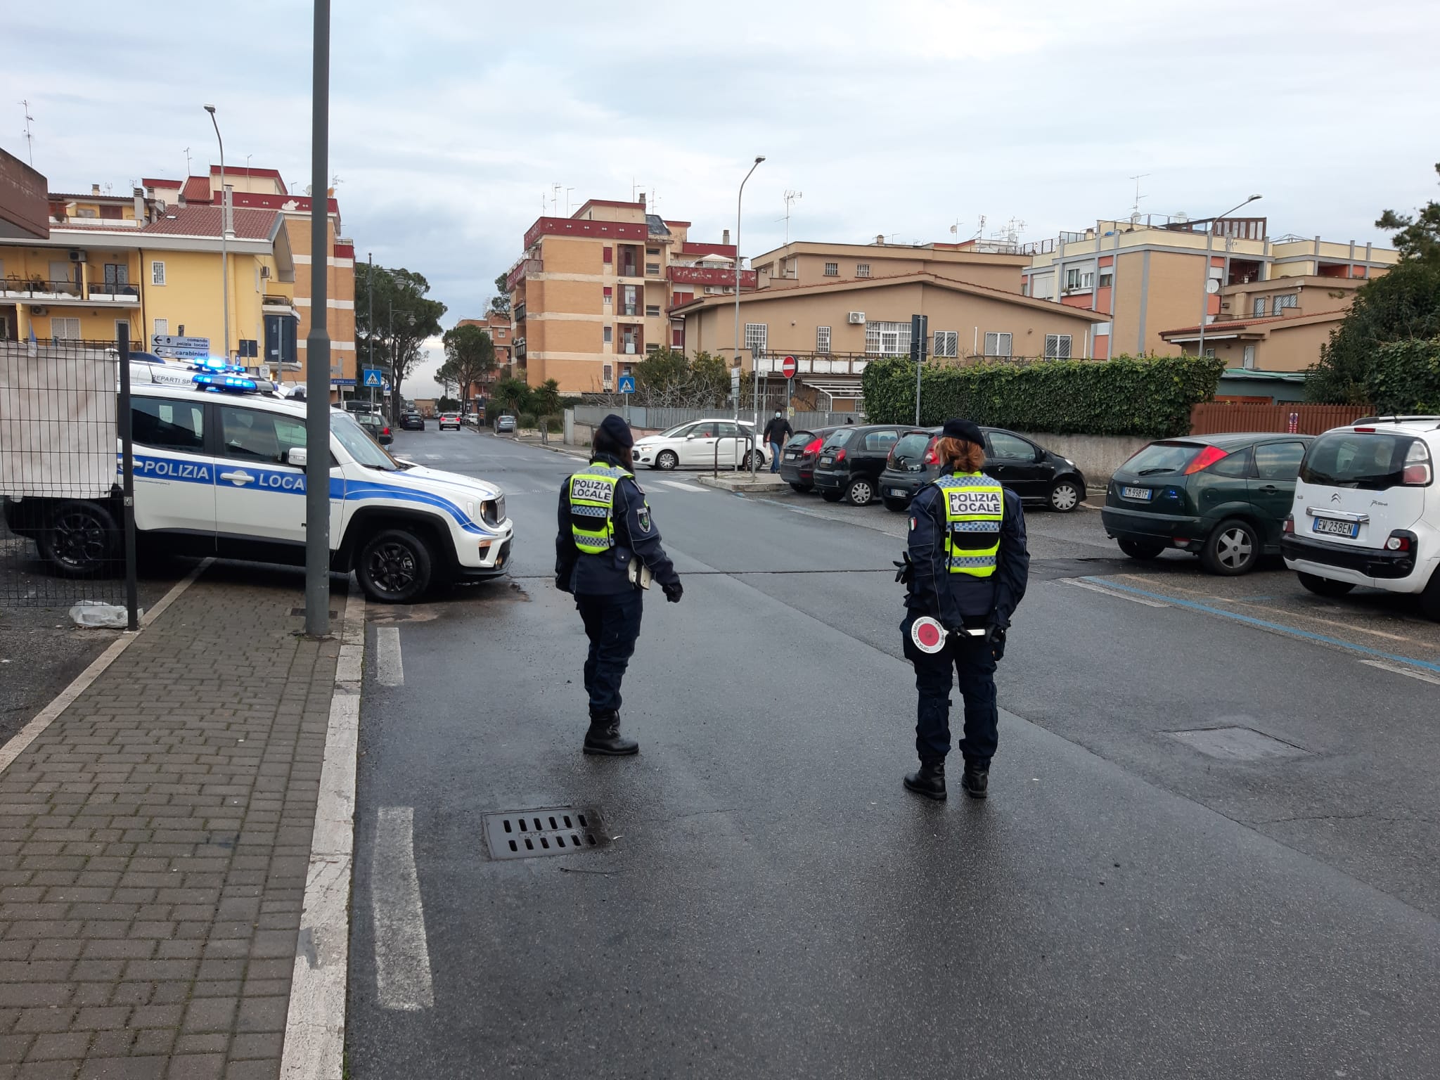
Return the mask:
<path id="1" fill-rule="evenodd" d="M 1335 428 L 1300 462 L 1280 552 L 1320 596 L 1356 585 L 1418 593 L 1440 619 L 1440 416 L 1384 416 Z"/>

